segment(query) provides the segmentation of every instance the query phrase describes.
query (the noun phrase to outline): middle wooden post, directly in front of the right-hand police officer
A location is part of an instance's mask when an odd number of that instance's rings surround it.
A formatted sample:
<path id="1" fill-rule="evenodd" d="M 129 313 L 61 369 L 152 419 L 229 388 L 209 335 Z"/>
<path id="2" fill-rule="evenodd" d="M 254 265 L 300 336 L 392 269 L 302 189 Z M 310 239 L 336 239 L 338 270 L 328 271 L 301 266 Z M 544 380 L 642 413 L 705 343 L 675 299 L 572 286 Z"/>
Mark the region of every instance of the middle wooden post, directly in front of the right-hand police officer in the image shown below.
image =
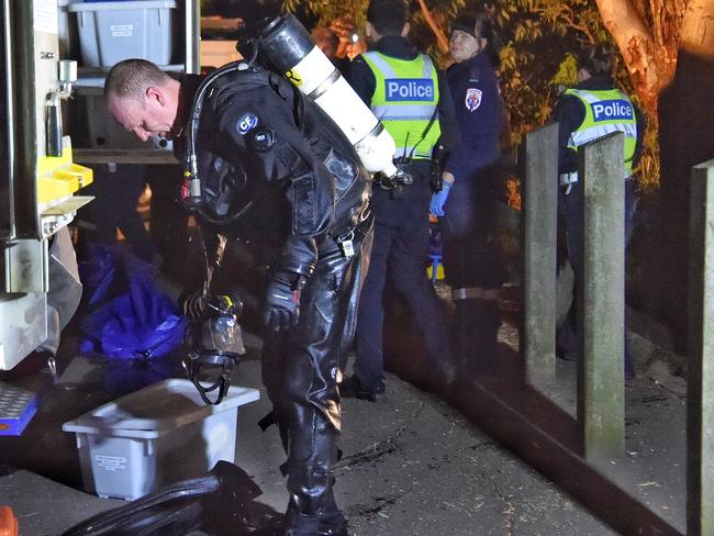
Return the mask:
<path id="1" fill-rule="evenodd" d="M 579 148 L 583 269 L 578 273 L 578 420 L 585 459 L 625 451 L 625 181 L 621 132 Z"/>

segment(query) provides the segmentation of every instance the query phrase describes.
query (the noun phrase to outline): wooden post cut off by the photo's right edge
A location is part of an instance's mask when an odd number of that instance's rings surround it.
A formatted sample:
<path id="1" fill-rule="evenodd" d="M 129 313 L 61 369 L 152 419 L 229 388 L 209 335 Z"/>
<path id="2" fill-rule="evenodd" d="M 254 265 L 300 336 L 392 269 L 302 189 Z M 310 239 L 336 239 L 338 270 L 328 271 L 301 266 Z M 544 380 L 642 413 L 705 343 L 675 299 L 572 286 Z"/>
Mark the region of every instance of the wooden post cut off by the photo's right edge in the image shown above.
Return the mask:
<path id="1" fill-rule="evenodd" d="M 714 534 L 714 160 L 692 168 L 687 534 Z"/>

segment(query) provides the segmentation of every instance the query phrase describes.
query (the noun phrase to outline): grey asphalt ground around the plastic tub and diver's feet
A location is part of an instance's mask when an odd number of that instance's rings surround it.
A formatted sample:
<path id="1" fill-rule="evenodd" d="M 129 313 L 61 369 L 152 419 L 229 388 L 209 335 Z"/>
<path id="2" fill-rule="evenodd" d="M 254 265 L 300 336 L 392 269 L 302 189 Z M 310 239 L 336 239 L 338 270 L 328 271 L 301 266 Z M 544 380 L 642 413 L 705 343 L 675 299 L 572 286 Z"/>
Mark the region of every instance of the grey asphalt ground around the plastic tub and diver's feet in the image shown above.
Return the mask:
<path id="1" fill-rule="evenodd" d="M 122 506 L 81 491 L 75 418 L 133 382 L 166 370 L 125 370 L 123 384 L 108 378 L 115 365 L 75 358 L 44 391 L 40 413 L 19 438 L 0 438 L 0 504 L 12 506 L 22 536 L 59 535 L 91 515 Z M 34 379 L 30 381 L 30 377 Z M 35 372 L 22 381 L 47 379 Z M 253 522 L 244 533 L 220 527 L 202 534 L 270 534 L 287 503 L 278 466 L 285 455 L 275 427 L 257 422 L 269 410 L 255 353 L 234 371 L 234 383 L 258 388 L 259 402 L 238 411 L 236 464 L 257 483 Z M 500 447 L 457 411 L 395 376 L 383 403 L 345 400 L 343 458 L 336 495 L 355 535 L 609 535 L 616 534 L 553 482 Z"/>

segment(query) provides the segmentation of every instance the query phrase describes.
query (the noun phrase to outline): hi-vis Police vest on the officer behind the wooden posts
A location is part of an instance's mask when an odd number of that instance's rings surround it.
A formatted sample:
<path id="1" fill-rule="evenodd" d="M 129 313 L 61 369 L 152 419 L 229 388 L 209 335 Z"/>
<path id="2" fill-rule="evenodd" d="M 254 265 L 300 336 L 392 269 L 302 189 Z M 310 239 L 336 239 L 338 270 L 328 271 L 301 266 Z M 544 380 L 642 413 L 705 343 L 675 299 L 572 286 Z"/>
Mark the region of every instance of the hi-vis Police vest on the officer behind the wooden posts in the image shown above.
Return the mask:
<path id="1" fill-rule="evenodd" d="M 585 107 L 585 119 L 570 135 L 568 147 L 577 148 L 612 132 L 625 134 L 624 176 L 633 174 L 633 158 L 637 145 L 637 121 L 635 108 L 629 99 L 618 89 L 584 90 L 568 89 L 566 94 L 580 99 Z"/>

